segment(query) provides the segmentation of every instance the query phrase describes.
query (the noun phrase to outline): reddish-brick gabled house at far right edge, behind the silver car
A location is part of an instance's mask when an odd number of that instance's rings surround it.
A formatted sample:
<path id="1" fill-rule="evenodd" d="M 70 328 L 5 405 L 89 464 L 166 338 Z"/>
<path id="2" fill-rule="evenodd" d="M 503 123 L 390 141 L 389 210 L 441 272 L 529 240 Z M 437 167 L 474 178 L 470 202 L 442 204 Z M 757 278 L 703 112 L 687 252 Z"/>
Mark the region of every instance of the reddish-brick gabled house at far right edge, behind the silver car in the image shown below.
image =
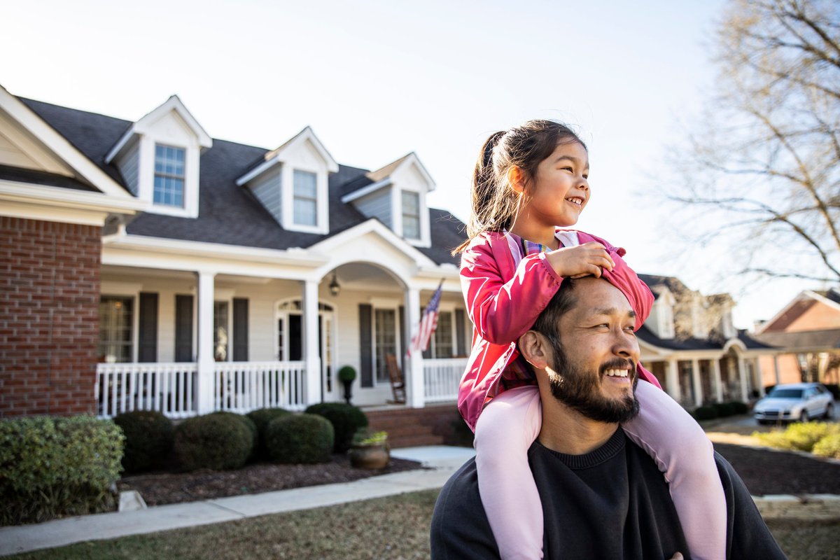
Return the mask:
<path id="1" fill-rule="evenodd" d="M 759 324 L 755 338 L 778 347 L 762 359 L 764 385 L 840 383 L 840 290 L 806 290 Z"/>

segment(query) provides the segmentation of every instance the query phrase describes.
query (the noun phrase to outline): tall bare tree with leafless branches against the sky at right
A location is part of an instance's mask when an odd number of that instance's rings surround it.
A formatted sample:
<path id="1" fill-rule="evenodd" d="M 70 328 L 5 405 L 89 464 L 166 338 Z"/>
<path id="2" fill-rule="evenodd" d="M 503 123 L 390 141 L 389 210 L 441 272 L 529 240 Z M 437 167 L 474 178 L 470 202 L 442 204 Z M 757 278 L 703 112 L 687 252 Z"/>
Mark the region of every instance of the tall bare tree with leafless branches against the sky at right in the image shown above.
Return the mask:
<path id="1" fill-rule="evenodd" d="M 840 281 L 840 3 L 733 0 L 716 39 L 717 95 L 667 196 L 747 249 L 743 271 Z"/>

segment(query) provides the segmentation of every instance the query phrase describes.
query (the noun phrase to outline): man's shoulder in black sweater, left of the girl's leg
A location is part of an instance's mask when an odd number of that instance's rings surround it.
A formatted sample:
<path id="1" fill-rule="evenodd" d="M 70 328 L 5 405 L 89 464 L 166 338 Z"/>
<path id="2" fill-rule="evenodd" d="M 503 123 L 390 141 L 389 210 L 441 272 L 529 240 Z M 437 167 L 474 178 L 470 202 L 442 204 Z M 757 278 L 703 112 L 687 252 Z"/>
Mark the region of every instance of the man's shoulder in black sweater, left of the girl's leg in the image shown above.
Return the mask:
<path id="1" fill-rule="evenodd" d="M 440 490 L 430 531 L 433 558 L 499 557 L 490 522 L 481 505 L 475 458 L 455 471 Z"/>

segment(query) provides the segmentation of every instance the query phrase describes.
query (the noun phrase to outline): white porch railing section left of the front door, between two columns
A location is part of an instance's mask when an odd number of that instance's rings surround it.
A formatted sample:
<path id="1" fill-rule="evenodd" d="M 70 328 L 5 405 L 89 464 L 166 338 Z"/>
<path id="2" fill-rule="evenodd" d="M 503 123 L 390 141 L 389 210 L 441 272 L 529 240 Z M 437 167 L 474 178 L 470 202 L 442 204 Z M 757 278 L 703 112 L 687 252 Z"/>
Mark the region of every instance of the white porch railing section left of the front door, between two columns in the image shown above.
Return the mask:
<path id="1" fill-rule="evenodd" d="M 213 375 L 214 410 L 302 411 L 307 406 L 305 377 L 305 362 L 217 362 Z"/>

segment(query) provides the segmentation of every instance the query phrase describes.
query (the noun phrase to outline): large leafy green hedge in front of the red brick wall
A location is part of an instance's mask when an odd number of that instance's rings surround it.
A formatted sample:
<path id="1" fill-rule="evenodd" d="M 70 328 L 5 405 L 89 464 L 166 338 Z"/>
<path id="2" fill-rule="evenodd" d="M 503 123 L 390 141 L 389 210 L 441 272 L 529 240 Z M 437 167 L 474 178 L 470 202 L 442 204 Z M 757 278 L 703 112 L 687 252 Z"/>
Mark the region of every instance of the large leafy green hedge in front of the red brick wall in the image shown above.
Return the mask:
<path id="1" fill-rule="evenodd" d="M 92 416 L 0 421 L 0 525 L 111 509 L 123 440 Z"/>

